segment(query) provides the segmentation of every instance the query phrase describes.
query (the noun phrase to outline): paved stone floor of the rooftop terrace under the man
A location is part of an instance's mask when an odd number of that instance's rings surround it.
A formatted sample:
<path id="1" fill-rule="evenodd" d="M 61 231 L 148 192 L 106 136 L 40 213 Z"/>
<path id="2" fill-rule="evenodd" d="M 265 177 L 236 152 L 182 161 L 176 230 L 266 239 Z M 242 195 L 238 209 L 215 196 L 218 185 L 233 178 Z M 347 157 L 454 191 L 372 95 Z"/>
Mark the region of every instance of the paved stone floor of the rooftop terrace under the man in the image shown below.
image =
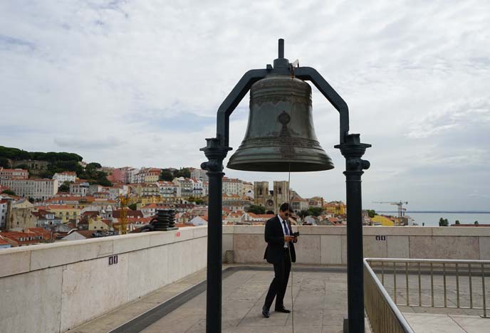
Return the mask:
<path id="1" fill-rule="evenodd" d="M 267 269 L 267 270 L 264 270 Z M 183 333 L 205 332 L 206 292 L 197 288 L 206 277 L 206 271 L 189 275 L 153 292 L 140 300 L 105 314 L 103 317 L 72 329 L 74 333 Z M 343 317 L 347 313 L 347 284 L 345 273 L 333 272 L 294 272 L 293 298 L 294 313 L 271 312 L 264 318 L 261 307 L 273 277 L 268 266 L 258 266 L 250 270 L 236 270 L 224 274 L 223 280 L 223 332 L 233 333 L 275 333 L 294 332 L 330 333 L 343 332 Z M 181 293 L 194 288 L 182 300 Z M 176 297 L 177 296 L 177 297 Z M 174 302 L 167 302 L 172 300 Z M 176 301 L 180 299 L 180 301 Z M 167 302 L 167 303 L 165 303 Z M 163 305 L 171 304 L 168 307 Z M 163 305 L 162 305 L 163 304 Z M 285 306 L 291 309 L 291 280 L 285 297 Z M 151 309 L 162 308 L 159 313 Z M 445 309 L 401 307 L 408 322 L 417 333 L 422 332 L 489 332 L 490 319 L 478 315 L 448 312 Z M 150 311 L 148 311 L 150 310 Z M 128 326 L 121 326 L 128 320 L 140 316 Z M 434 313 L 439 312 L 439 313 Z M 163 317 L 162 317 L 163 314 Z M 142 319 L 145 318 L 145 319 Z M 370 332 L 366 323 L 366 332 Z"/>

